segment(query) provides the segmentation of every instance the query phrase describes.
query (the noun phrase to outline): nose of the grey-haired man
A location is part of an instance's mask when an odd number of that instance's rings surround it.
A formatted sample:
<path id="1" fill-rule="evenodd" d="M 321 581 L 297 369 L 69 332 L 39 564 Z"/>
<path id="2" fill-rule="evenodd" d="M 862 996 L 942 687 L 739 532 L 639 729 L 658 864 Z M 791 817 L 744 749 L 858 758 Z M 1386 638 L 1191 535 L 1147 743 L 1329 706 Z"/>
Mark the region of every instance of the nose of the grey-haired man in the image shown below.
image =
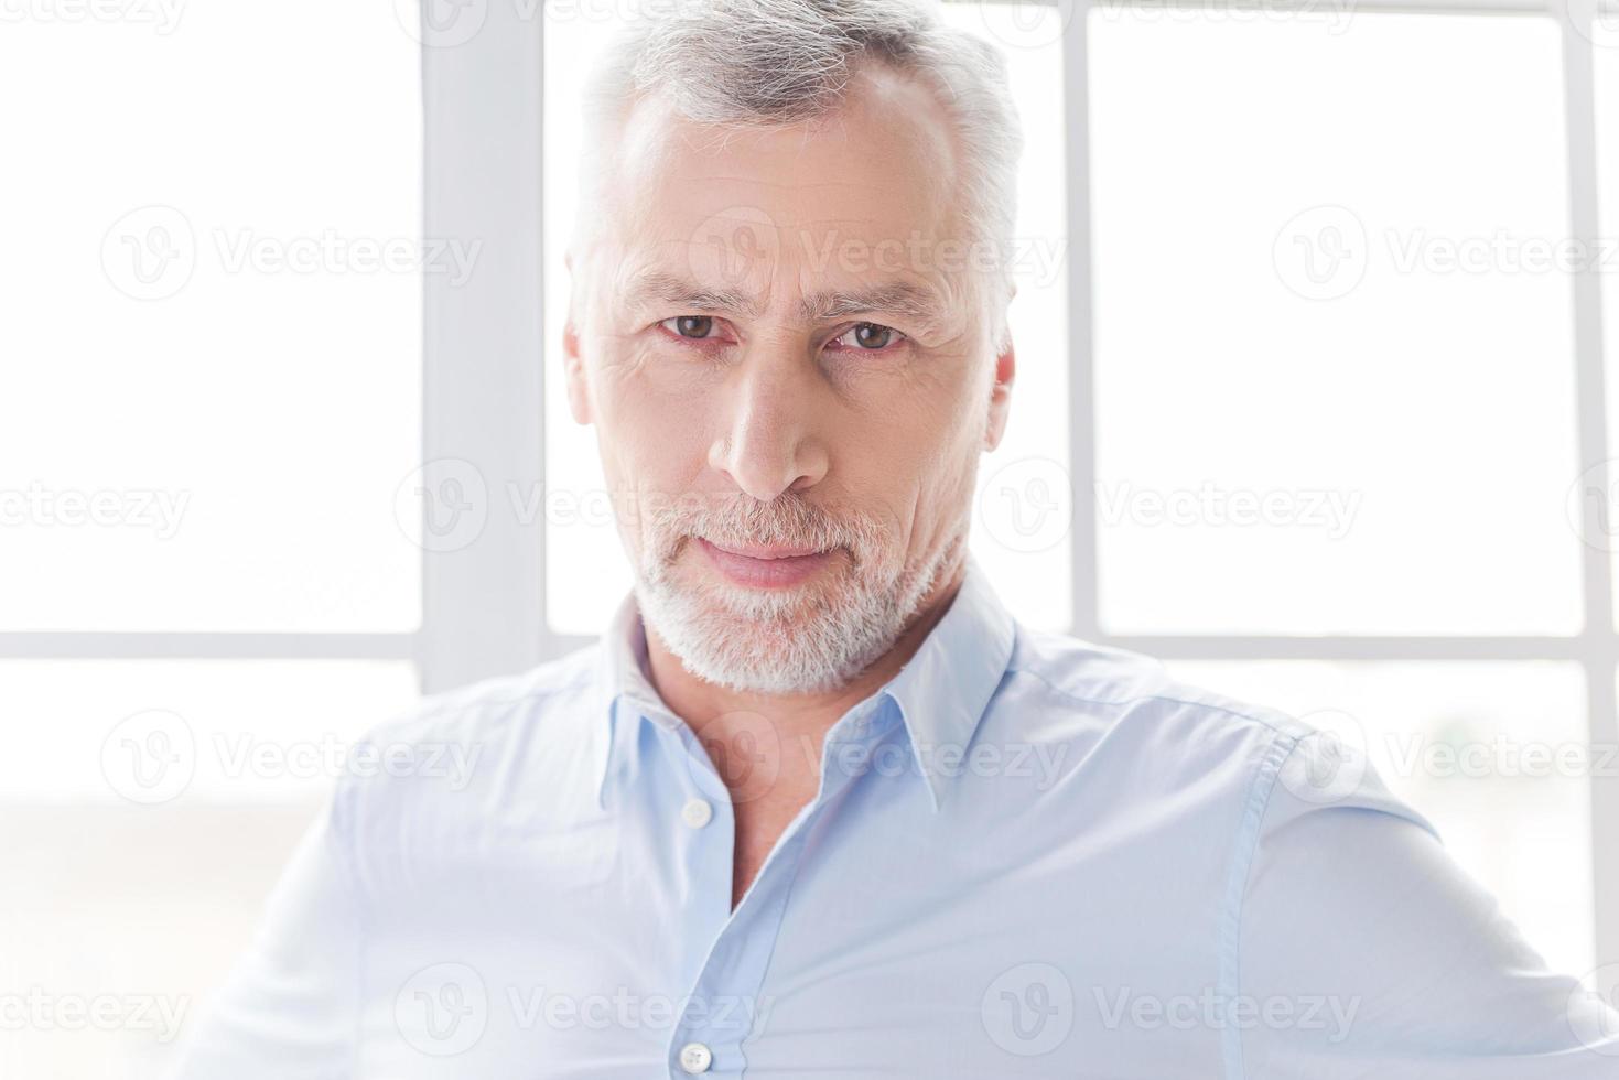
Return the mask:
<path id="1" fill-rule="evenodd" d="M 724 390 L 725 419 L 709 447 L 709 466 L 761 502 L 813 487 L 827 471 L 824 387 L 814 366 L 788 348 L 769 353 L 737 366 Z"/>

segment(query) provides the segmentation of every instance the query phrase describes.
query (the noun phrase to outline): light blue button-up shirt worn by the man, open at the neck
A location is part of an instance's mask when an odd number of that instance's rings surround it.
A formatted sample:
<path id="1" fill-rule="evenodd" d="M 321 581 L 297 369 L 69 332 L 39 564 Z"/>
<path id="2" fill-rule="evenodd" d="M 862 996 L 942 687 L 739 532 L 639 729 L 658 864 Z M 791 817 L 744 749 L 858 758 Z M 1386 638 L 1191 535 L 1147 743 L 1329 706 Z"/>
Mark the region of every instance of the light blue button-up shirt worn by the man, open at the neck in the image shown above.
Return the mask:
<path id="1" fill-rule="evenodd" d="M 976 562 L 735 912 L 644 664 L 628 594 L 372 732 L 410 767 L 338 785 L 181 1075 L 1619 1077 L 1619 1017 L 1363 759 L 1023 627 Z"/>

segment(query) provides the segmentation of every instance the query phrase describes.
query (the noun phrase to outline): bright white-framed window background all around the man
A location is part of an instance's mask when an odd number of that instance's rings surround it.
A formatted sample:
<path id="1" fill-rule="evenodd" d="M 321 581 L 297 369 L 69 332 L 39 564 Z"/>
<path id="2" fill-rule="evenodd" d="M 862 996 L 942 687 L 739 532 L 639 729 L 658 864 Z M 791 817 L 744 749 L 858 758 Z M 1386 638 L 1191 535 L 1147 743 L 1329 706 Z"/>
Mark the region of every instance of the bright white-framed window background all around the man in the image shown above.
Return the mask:
<path id="1" fill-rule="evenodd" d="M 8 8 L 0 32 L 0 91 L 26 102 L 0 110 L 0 230 L 26 253 L 0 261 L 0 996 L 194 1015 L 330 785 L 319 753 L 479 662 L 575 648 L 628 588 L 604 518 L 536 515 L 489 465 L 601 491 L 560 395 L 559 244 L 570 91 L 612 19 L 68 10 Z M 1619 222 L 1619 18 L 947 10 L 1007 52 L 1028 138 L 1012 427 L 973 521 L 1009 606 L 1360 740 L 1554 967 L 1619 960 L 1595 902 L 1611 777 L 1501 753 L 1619 742 L 1619 526 L 1611 491 L 1577 484 L 1619 402 L 1590 393 L 1591 372 L 1619 385 L 1619 244 L 1595 290 L 1511 254 Z M 484 49 L 533 94 L 495 92 Z M 478 186 L 526 183 L 529 157 L 536 207 Z M 457 199 L 495 225 L 458 233 Z M 468 282 L 424 219 L 484 244 Z M 419 257 L 342 248 L 366 243 Z M 476 376 L 434 368 L 489 311 L 521 332 L 478 338 Z M 526 442 L 455 421 L 457 379 L 533 416 Z M 476 468 L 424 473 L 445 445 Z M 1261 497 L 1266 521 L 1227 517 Z M 424 502 L 487 528 L 424 531 Z M 538 575 L 538 602 L 436 599 L 470 562 L 495 591 Z M 508 615 L 528 653 L 447 662 Z M 185 782 L 147 785 L 141 755 L 176 746 Z M 256 746 L 317 758 L 232 764 Z M 1472 774 L 1423 764 L 1486 746 Z M 146 1078 L 172 1052 L 0 1030 L 0 1077 Z"/>

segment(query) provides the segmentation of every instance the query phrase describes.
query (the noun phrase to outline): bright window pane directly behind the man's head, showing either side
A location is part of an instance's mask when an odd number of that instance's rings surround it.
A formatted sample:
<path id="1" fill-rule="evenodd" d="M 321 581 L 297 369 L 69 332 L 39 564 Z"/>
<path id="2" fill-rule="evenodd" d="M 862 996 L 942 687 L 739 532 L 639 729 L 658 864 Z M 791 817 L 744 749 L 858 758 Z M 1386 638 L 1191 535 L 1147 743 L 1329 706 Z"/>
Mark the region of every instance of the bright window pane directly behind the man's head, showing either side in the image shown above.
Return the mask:
<path id="1" fill-rule="evenodd" d="M 1067 628 L 1067 220 L 1062 186 L 1062 21 L 1031 5 L 952 3 L 945 18 L 1007 55 L 1026 151 L 1013 248 L 1018 353 L 1012 419 L 979 461 L 971 547 L 1007 604 L 1033 625 Z M 562 327 L 568 275 L 562 253 L 576 214 L 581 126 L 578 86 L 612 32 L 607 19 L 546 21 L 546 513 L 547 619 L 559 633 L 594 635 L 630 589 L 630 567 L 604 494 L 596 434 L 568 413 Z"/>

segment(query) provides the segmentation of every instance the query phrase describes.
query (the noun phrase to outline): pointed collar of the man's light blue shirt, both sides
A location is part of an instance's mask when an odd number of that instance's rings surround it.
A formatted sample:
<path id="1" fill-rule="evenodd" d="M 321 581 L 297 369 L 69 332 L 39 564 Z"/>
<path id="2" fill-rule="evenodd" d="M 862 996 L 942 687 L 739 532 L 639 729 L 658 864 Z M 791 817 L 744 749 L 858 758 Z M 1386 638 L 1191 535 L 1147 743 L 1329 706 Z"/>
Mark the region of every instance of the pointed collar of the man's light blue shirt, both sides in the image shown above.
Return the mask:
<path id="1" fill-rule="evenodd" d="M 952 772 L 965 759 L 978 721 L 1001 685 L 1012 659 L 1017 623 L 1001 602 L 983 567 L 967 554 L 962 585 L 910 662 L 873 696 L 899 706 L 933 808 L 944 798 Z M 594 742 L 597 803 L 606 795 L 612 767 L 615 716 L 640 712 L 661 727 L 683 722 L 664 704 L 648 675 L 646 627 L 630 589 L 618 602 L 602 636 L 597 665 L 601 738 Z M 941 764 L 945 766 L 941 771 Z"/>

